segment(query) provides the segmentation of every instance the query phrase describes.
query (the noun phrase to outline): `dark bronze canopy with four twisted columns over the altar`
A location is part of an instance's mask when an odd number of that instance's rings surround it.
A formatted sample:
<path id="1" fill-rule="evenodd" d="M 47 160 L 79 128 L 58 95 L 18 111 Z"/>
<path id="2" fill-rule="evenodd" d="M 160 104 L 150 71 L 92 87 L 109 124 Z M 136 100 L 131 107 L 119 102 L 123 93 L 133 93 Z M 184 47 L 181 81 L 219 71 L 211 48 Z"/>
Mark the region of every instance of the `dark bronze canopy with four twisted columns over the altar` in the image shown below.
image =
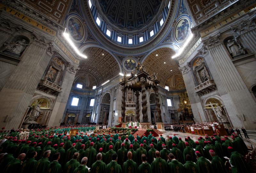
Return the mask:
<path id="1" fill-rule="evenodd" d="M 122 82 L 119 84 L 122 86 L 122 105 L 121 105 L 121 115 L 122 115 L 122 124 L 124 127 L 127 124 L 127 119 L 125 119 L 125 92 L 126 90 L 132 90 L 136 96 L 136 115 L 135 120 L 140 122 L 142 129 L 149 129 L 150 123 L 148 121 L 148 106 L 147 106 L 147 99 L 146 99 L 146 90 L 153 88 L 155 95 L 156 95 L 156 111 L 157 111 L 157 120 L 156 124 L 160 124 L 161 129 L 163 126 L 161 110 L 160 110 L 160 103 L 158 97 L 158 85 L 160 82 L 156 80 L 156 73 L 153 76 L 150 76 L 146 71 L 143 69 L 143 65 L 138 62 L 138 65 L 135 67 L 135 72 L 131 73 L 131 76 L 124 75 Z M 139 96 L 141 94 L 141 107 L 142 107 L 142 119 L 140 120 L 140 106 L 139 106 Z M 122 126 L 123 126 L 122 125 Z M 160 127 L 159 126 L 159 127 Z"/>

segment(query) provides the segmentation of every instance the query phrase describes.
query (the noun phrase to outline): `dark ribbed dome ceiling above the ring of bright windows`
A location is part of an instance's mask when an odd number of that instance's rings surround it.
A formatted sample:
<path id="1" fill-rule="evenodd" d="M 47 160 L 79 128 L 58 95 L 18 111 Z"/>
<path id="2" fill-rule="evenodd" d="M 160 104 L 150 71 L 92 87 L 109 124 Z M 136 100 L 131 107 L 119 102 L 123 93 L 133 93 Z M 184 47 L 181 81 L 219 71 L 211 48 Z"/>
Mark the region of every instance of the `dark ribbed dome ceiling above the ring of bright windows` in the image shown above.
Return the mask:
<path id="1" fill-rule="evenodd" d="M 152 21 L 162 0 L 99 0 L 108 20 L 120 29 L 138 30 Z"/>

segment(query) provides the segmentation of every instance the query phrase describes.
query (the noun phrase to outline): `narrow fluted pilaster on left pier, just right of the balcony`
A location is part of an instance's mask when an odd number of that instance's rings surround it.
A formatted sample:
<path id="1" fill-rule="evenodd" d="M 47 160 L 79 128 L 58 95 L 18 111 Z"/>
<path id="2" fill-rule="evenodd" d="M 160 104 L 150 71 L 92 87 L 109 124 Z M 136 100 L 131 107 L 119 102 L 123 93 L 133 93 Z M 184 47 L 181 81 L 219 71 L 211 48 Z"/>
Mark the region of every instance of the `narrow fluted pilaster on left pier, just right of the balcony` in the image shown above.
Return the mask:
<path id="1" fill-rule="evenodd" d="M 70 90 L 72 88 L 72 84 L 74 82 L 76 72 L 78 68 L 69 65 L 65 70 L 63 75 L 62 82 L 62 93 L 60 93 L 55 101 L 54 107 L 52 109 L 51 117 L 49 119 L 48 126 L 59 126 L 61 123 L 61 118 L 65 111 L 65 107 L 67 105 L 68 96 L 70 94 Z M 79 115 L 79 114 L 78 114 Z M 77 119 L 78 120 L 78 119 Z"/>

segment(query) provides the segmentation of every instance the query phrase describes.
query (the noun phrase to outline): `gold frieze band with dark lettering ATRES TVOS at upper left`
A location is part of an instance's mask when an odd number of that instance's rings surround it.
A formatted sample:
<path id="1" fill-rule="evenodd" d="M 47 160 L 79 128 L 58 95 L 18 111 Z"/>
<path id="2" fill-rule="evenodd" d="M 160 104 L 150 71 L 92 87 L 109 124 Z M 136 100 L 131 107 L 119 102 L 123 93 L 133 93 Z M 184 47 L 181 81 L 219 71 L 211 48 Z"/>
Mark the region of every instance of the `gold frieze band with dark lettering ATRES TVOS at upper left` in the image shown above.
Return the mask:
<path id="1" fill-rule="evenodd" d="M 21 12 L 13 9 L 11 7 L 8 7 L 8 6 L 0 3 L 0 10 L 6 11 L 7 13 L 11 14 L 12 16 L 14 16 L 16 18 L 20 18 L 24 22 L 26 22 L 26 23 L 28 23 L 32 26 L 35 26 L 36 28 L 38 28 L 38 29 L 50 34 L 50 35 L 53 35 L 53 36 L 56 35 L 56 31 L 48 28 L 47 26 L 45 26 L 43 24 L 40 24 L 40 23 L 36 22 L 34 19 L 29 18 L 28 16 L 22 14 Z"/>

